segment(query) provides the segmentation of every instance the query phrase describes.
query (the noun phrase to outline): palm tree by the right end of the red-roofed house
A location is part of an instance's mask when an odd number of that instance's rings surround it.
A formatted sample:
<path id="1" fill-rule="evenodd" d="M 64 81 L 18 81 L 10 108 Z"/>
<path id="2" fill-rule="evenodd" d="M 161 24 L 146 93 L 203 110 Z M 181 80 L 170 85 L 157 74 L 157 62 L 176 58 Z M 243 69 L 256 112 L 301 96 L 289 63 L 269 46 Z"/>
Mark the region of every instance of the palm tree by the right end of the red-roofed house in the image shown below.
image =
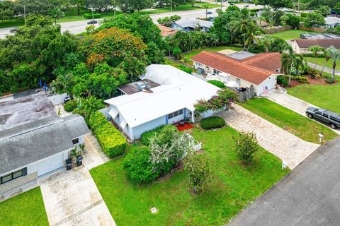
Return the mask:
<path id="1" fill-rule="evenodd" d="M 301 54 L 295 54 L 293 49 L 290 47 L 288 53 L 284 52 L 281 55 L 281 64 L 283 71 L 289 76 L 288 85 L 290 85 L 292 69 L 300 69 L 305 65 L 305 60 Z"/>

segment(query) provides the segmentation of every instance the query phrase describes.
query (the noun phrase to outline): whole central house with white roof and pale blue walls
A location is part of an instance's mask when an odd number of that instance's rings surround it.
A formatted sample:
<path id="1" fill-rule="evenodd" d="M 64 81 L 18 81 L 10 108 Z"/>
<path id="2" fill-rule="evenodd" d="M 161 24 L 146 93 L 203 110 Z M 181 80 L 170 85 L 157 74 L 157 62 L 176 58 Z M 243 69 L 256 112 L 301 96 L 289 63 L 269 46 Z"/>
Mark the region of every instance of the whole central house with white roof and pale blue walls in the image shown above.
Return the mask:
<path id="1" fill-rule="evenodd" d="M 198 100 L 209 100 L 220 90 L 215 85 L 169 65 L 152 64 L 142 81 L 120 88 L 123 95 L 106 100 L 108 114 L 132 140 L 142 133 L 183 119 L 195 121 Z M 209 117 L 214 112 L 205 112 Z"/>

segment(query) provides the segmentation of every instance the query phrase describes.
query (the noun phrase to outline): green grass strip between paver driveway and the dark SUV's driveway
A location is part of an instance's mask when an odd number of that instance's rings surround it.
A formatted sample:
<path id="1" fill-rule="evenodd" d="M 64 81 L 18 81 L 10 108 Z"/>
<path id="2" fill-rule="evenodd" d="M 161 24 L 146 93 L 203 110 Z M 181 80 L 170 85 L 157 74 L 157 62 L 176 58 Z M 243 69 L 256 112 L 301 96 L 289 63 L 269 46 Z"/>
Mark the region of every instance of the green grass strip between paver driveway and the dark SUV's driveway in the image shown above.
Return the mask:
<path id="1" fill-rule="evenodd" d="M 338 136 L 326 126 L 266 98 L 254 98 L 240 105 L 305 141 L 319 143 L 318 133 L 324 134 L 324 141 Z"/>

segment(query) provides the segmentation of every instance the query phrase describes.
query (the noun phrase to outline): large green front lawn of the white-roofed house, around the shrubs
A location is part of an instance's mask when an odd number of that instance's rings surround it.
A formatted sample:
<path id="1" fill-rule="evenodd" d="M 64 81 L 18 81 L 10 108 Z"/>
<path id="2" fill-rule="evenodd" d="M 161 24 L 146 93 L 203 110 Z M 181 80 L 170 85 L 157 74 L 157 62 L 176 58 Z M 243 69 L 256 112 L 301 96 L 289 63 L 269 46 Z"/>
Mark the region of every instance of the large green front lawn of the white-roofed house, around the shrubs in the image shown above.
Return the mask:
<path id="1" fill-rule="evenodd" d="M 188 191 L 183 171 L 146 186 L 132 184 L 123 171 L 123 157 L 90 172 L 117 225 L 224 225 L 288 172 L 262 148 L 253 165 L 242 165 L 232 140 L 237 134 L 230 127 L 193 129 L 215 170 L 215 179 L 198 196 Z M 153 215 L 152 207 L 159 213 Z"/>

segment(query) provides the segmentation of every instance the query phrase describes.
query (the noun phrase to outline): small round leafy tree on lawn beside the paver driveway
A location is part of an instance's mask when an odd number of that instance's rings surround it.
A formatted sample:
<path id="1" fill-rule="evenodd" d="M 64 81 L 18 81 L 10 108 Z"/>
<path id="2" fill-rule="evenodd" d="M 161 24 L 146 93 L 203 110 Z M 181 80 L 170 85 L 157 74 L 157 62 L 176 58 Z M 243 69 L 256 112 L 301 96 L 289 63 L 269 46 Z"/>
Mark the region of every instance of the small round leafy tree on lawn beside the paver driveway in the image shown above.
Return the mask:
<path id="1" fill-rule="evenodd" d="M 254 153 L 259 150 L 259 143 L 255 133 L 241 132 L 239 136 L 234 137 L 234 141 L 237 157 L 245 164 L 253 162 Z"/>

